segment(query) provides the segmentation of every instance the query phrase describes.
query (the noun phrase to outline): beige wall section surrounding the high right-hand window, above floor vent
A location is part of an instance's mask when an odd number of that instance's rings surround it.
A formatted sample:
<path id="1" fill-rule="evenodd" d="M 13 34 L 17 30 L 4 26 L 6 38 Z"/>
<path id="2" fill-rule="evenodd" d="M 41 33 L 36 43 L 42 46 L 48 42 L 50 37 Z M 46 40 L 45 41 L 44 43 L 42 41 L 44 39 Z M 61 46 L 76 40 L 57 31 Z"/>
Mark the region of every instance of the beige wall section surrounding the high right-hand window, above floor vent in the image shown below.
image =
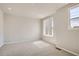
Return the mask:
<path id="1" fill-rule="evenodd" d="M 79 54 L 79 29 L 68 29 L 68 8 L 69 6 L 63 7 L 54 14 L 57 45 Z"/>

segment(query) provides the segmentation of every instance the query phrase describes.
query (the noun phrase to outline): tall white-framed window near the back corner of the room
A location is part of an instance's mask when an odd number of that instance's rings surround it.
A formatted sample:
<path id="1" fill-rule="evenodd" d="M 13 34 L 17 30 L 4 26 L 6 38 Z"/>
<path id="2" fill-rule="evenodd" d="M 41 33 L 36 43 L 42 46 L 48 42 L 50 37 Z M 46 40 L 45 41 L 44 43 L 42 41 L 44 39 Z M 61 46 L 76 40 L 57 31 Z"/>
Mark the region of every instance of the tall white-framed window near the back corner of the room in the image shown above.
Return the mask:
<path id="1" fill-rule="evenodd" d="M 53 18 L 43 20 L 43 35 L 53 36 Z"/>

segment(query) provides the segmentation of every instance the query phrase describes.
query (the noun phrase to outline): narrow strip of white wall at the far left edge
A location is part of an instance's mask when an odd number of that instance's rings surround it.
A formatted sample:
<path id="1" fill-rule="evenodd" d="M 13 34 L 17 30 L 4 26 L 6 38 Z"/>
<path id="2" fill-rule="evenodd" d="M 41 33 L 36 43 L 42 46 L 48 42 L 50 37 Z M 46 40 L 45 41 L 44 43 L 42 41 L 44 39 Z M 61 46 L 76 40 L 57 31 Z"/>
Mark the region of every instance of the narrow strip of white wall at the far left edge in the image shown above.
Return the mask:
<path id="1" fill-rule="evenodd" d="M 0 47 L 4 43 L 4 35 L 3 35 L 3 12 L 0 10 Z"/>

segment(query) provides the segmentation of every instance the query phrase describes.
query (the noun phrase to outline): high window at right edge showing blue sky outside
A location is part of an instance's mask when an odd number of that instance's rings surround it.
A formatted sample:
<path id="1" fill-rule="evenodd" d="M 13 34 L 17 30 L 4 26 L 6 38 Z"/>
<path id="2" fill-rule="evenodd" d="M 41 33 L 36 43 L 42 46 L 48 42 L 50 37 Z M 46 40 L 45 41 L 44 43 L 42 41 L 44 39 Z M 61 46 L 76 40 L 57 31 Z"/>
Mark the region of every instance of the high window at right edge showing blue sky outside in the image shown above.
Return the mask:
<path id="1" fill-rule="evenodd" d="M 70 8 L 70 25 L 72 28 L 79 28 L 79 5 Z"/>

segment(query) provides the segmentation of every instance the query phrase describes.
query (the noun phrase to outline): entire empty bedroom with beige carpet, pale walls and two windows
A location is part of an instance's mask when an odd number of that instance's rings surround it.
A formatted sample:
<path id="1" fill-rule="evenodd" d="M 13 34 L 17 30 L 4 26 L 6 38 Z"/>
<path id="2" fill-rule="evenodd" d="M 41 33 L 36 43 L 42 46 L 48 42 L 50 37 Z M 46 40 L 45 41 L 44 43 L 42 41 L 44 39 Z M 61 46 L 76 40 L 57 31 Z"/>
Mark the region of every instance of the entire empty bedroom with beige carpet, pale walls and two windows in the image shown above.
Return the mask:
<path id="1" fill-rule="evenodd" d="M 0 56 L 79 56 L 79 4 L 0 3 Z"/>

